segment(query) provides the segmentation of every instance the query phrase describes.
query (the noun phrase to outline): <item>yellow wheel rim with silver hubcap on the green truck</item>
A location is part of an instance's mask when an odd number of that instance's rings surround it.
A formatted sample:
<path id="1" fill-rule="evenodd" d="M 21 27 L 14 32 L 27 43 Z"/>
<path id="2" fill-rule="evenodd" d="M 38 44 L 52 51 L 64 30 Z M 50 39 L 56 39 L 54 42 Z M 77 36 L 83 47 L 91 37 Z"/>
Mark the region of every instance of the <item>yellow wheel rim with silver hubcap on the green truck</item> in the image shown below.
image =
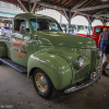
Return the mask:
<path id="1" fill-rule="evenodd" d="M 46 93 L 47 92 L 47 89 L 48 89 L 48 83 L 47 83 L 47 80 L 46 80 L 46 77 L 45 77 L 44 74 L 37 73 L 35 75 L 35 83 L 36 83 L 37 88 L 41 93 Z"/>

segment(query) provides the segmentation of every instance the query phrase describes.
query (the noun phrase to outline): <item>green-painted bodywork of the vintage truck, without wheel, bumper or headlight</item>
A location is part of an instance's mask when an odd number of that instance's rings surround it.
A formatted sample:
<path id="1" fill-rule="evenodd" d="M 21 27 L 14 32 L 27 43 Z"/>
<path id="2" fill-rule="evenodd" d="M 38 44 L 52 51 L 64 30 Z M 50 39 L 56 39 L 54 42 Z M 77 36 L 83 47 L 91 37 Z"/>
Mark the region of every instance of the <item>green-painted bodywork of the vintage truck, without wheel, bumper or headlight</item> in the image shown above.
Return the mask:
<path id="1" fill-rule="evenodd" d="M 0 57 L 5 55 L 13 62 L 26 66 L 27 77 L 34 69 L 44 70 L 59 90 L 89 80 L 90 73 L 98 65 L 97 49 L 90 49 L 96 47 L 96 43 L 87 37 L 62 33 L 57 21 L 46 15 L 37 15 L 37 20 L 53 21 L 52 25 L 57 24 L 56 31 L 51 31 L 51 26 L 49 31 L 38 31 L 37 25 L 34 31 L 31 19 L 36 19 L 36 15 L 23 13 L 13 19 L 10 38 L 4 35 L 0 41 Z M 15 20 L 25 20 L 29 32 L 17 32 L 20 22 L 16 25 Z M 84 57 L 81 70 L 76 66 L 78 56 Z"/>

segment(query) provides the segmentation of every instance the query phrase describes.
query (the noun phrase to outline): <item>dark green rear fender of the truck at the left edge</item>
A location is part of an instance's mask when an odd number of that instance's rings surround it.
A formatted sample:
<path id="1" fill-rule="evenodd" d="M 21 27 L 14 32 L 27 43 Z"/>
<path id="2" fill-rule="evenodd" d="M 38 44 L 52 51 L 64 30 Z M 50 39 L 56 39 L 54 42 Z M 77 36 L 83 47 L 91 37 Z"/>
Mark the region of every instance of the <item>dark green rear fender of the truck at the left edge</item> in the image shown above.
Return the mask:
<path id="1" fill-rule="evenodd" d="M 8 48 L 3 41 L 0 41 L 0 57 L 8 57 Z"/>

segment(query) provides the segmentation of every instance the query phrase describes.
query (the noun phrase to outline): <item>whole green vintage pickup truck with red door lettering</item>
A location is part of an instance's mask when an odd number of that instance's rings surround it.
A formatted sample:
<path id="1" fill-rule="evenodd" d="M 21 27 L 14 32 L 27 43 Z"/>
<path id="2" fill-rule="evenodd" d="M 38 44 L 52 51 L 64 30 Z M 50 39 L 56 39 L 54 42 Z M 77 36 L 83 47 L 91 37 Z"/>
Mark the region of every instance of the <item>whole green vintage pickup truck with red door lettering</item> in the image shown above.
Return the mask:
<path id="1" fill-rule="evenodd" d="M 64 34 L 55 19 L 40 14 L 15 15 L 12 33 L 0 37 L 0 64 L 33 75 L 36 92 L 46 99 L 98 81 L 99 57 L 93 39 Z"/>

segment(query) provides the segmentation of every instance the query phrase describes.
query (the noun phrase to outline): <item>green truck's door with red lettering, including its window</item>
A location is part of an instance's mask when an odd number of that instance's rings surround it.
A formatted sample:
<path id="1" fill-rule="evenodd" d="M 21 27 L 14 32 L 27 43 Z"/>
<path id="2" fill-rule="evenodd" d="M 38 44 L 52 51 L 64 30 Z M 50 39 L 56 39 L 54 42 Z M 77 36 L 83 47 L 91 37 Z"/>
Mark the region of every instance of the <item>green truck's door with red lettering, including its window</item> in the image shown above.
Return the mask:
<path id="1" fill-rule="evenodd" d="M 13 62 L 27 66 L 32 55 L 32 37 L 26 20 L 14 20 L 14 32 L 11 37 L 11 59 Z"/>

